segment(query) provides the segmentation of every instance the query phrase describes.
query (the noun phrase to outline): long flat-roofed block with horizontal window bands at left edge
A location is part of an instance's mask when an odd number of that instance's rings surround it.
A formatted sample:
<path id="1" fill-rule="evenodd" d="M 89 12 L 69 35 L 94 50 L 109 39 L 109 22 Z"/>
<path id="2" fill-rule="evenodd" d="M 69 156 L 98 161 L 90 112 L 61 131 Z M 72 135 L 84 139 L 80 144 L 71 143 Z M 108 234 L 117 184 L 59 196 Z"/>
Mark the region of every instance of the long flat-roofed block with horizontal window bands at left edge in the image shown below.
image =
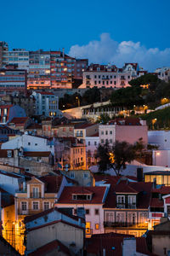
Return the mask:
<path id="1" fill-rule="evenodd" d="M 26 95 L 26 70 L 0 69 L 0 95 Z"/>

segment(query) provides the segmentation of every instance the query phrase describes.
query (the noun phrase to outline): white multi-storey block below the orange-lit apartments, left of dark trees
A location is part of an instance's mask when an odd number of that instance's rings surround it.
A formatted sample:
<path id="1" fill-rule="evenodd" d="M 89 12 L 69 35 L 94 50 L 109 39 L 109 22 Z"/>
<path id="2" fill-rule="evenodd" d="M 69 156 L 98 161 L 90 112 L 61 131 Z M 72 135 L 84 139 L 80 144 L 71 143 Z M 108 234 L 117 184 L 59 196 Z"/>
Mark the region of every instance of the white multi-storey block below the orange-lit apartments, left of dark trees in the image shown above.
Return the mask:
<path id="1" fill-rule="evenodd" d="M 59 97 L 52 92 L 33 91 L 32 95 L 36 99 L 36 114 L 52 117 L 62 117 L 59 110 Z"/>

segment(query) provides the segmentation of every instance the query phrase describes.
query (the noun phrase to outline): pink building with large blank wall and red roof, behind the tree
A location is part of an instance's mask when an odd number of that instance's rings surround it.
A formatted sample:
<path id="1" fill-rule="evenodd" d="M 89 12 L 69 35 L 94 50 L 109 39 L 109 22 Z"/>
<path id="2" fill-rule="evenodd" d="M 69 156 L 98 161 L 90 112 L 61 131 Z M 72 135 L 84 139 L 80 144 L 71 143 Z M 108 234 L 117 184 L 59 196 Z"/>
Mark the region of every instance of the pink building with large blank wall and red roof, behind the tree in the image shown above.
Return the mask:
<path id="1" fill-rule="evenodd" d="M 133 144 L 139 138 L 144 144 L 148 143 L 148 126 L 146 121 L 140 119 L 114 119 L 107 125 L 99 125 L 99 143 L 108 142 L 113 145 L 116 141 Z"/>

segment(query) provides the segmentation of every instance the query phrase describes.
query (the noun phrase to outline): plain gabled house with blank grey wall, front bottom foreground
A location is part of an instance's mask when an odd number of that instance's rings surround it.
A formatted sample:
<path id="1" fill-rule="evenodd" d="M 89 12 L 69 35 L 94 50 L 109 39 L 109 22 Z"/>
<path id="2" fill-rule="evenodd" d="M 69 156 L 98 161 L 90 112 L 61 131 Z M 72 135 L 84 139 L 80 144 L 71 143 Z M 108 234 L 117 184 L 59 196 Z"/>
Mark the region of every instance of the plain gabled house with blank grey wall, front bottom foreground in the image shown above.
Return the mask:
<path id="1" fill-rule="evenodd" d="M 26 255 L 82 255 L 84 251 L 84 218 L 73 216 L 71 208 L 52 208 L 28 216 Z"/>

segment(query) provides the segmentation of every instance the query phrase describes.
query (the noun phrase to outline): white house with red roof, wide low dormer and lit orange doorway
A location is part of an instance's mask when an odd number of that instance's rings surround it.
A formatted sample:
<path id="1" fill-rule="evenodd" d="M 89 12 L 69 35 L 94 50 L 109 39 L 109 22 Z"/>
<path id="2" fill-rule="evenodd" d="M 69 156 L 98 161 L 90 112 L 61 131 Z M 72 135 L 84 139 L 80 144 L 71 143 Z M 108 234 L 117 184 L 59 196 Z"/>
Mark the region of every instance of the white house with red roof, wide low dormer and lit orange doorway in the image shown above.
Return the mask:
<path id="1" fill-rule="evenodd" d="M 77 216 L 77 208 L 84 207 L 86 218 L 86 236 L 104 233 L 105 198 L 109 187 L 65 187 L 56 207 L 72 207 Z"/>

